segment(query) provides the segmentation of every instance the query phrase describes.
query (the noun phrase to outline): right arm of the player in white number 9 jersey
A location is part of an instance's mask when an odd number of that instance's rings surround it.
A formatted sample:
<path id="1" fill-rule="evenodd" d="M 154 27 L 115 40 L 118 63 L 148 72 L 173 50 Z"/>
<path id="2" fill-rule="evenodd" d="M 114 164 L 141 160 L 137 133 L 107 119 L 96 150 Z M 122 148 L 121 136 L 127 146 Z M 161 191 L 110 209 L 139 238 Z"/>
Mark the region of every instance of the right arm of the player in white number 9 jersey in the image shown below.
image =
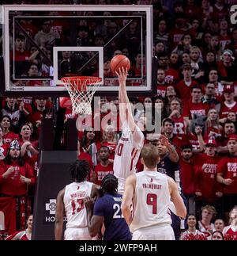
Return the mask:
<path id="1" fill-rule="evenodd" d="M 182 197 L 179 194 L 178 186 L 176 185 L 175 181 L 168 176 L 167 181 L 171 193 L 171 201 L 175 204 L 175 211 L 172 210 L 172 212 L 175 212 L 175 215 L 184 219 L 186 217 L 186 207 L 183 203 Z"/>

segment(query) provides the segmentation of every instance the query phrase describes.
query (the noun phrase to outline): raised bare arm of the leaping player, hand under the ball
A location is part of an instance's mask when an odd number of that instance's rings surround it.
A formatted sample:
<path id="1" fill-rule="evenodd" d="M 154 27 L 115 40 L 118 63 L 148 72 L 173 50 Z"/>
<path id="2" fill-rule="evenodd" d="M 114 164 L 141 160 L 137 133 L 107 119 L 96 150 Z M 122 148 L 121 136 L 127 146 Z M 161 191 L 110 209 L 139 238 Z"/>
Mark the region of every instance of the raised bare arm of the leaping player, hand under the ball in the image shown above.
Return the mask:
<path id="1" fill-rule="evenodd" d="M 122 124 L 127 121 L 130 130 L 134 132 L 136 124 L 134 122 L 130 100 L 126 93 L 127 70 L 123 67 L 122 69 L 119 68 L 119 72 L 116 71 L 116 75 L 119 77 L 119 116 Z"/>

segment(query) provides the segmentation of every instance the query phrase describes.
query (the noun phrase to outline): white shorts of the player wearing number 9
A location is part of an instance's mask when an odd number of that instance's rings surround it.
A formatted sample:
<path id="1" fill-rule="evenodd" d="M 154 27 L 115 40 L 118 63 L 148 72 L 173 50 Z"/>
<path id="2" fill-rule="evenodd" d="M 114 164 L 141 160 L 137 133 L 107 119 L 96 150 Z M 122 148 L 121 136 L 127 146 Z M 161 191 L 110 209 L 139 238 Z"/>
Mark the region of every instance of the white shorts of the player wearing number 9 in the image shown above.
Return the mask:
<path id="1" fill-rule="evenodd" d="M 175 240 L 170 224 L 142 227 L 133 233 L 132 240 Z"/>

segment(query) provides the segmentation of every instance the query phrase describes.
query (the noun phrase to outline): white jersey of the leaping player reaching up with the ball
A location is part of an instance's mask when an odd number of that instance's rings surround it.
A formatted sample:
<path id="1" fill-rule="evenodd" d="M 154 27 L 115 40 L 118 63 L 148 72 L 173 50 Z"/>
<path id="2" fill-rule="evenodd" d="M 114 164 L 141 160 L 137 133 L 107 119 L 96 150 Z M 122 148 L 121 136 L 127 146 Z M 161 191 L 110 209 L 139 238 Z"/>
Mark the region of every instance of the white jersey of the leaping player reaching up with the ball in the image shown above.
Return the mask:
<path id="1" fill-rule="evenodd" d="M 144 144 L 143 133 L 137 125 L 135 129 L 133 133 L 127 122 L 122 124 L 122 136 L 115 150 L 114 174 L 122 182 L 136 172 L 136 164 Z"/>

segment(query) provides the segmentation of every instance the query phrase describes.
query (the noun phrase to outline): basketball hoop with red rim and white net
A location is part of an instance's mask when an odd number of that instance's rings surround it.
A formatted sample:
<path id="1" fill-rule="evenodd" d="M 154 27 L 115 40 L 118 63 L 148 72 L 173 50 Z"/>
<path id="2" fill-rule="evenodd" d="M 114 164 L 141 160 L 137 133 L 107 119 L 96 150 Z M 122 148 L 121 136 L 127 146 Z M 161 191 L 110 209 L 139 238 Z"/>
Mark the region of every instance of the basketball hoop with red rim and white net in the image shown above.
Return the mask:
<path id="1" fill-rule="evenodd" d="M 61 78 L 70 94 L 73 114 L 90 115 L 92 98 L 101 84 L 102 78 L 92 76 L 72 76 Z"/>

